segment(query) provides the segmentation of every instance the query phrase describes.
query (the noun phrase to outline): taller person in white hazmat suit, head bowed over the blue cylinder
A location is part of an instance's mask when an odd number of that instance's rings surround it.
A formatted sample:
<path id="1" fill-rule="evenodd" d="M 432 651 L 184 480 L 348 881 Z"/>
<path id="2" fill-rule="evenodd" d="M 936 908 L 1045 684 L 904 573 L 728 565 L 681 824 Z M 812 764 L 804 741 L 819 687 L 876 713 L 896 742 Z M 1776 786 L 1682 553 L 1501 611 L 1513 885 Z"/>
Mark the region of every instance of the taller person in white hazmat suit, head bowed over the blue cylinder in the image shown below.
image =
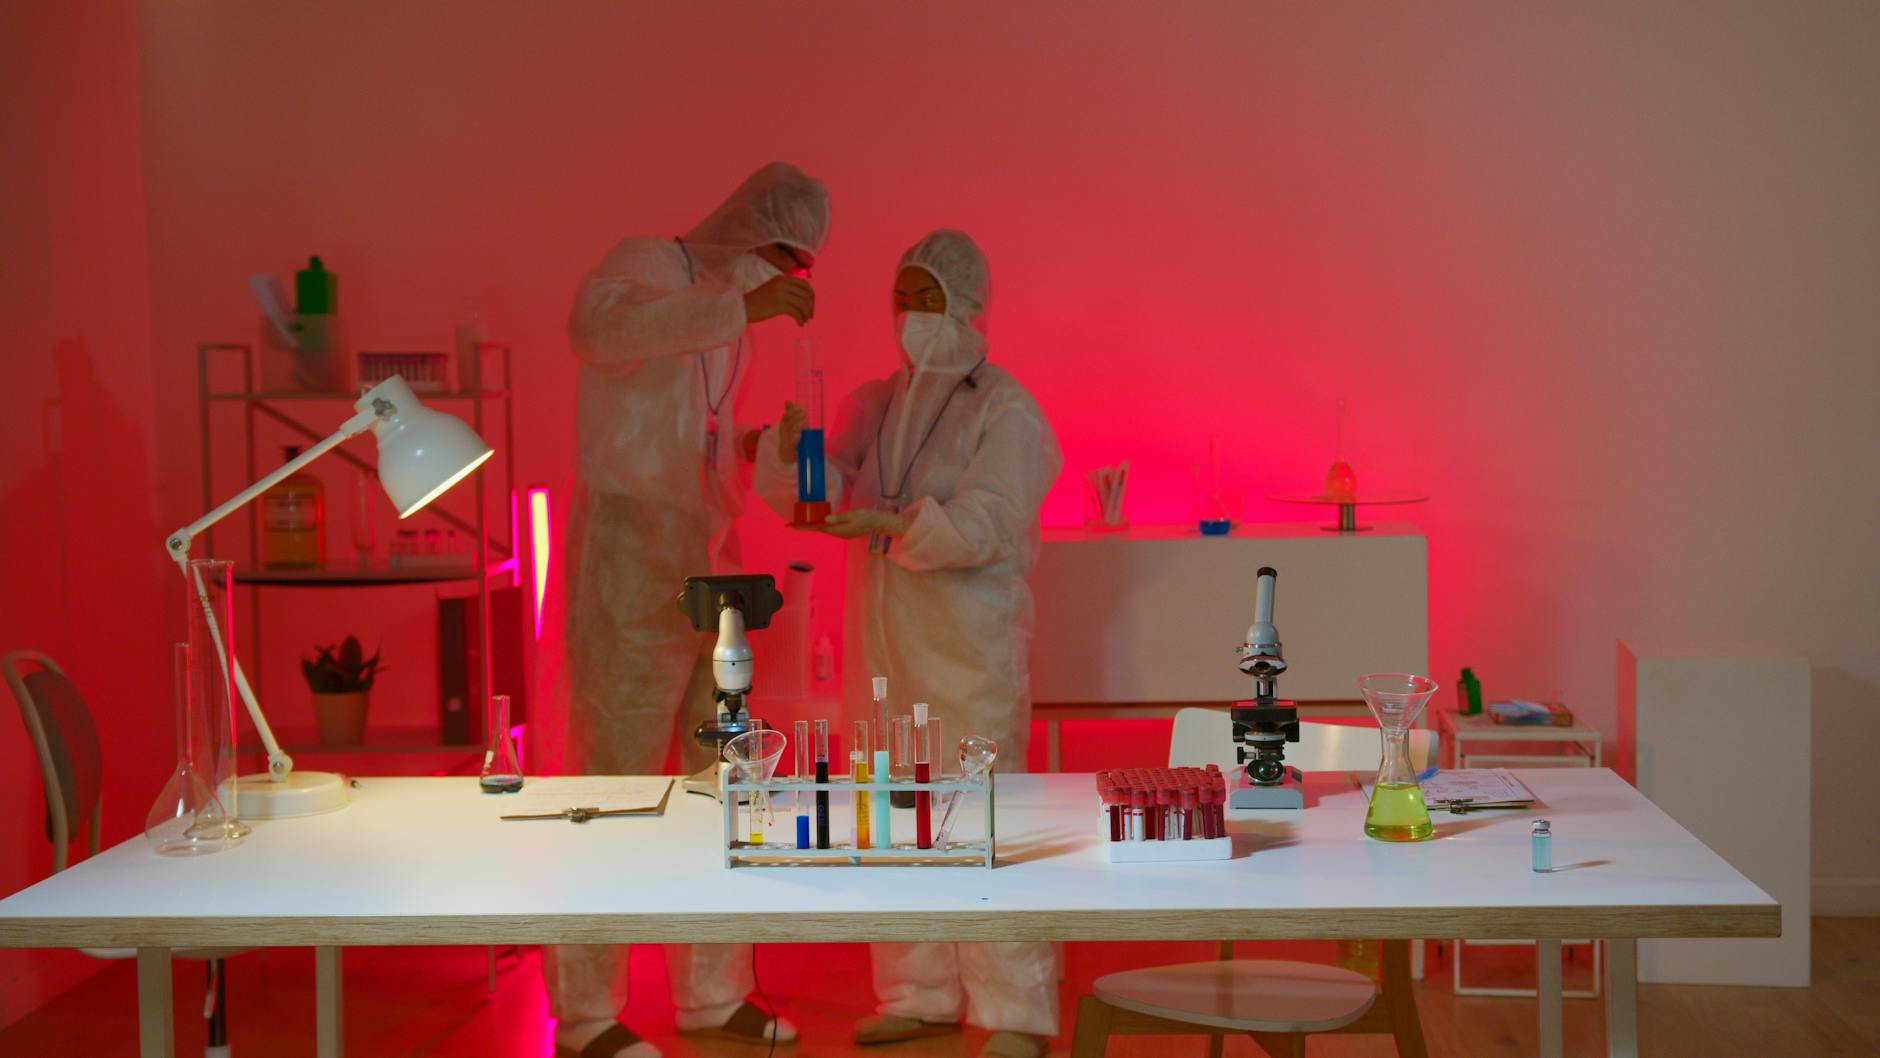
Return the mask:
<path id="1" fill-rule="evenodd" d="M 577 494 L 568 552 L 568 765 L 660 774 L 711 761 L 692 729 L 714 716 L 709 633 L 673 598 L 686 577 L 735 571 L 743 506 L 733 406 L 750 370 L 746 327 L 816 308 L 807 272 L 829 229 L 829 194 L 771 163 L 681 239 L 634 237 L 581 280 L 570 319 L 579 368 Z M 543 957 L 556 1054 L 650 1058 L 615 1019 L 626 949 L 558 945 Z M 795 1039 L 746 1002 L 750 945 L 669 945 L 682 1035 Z"/>

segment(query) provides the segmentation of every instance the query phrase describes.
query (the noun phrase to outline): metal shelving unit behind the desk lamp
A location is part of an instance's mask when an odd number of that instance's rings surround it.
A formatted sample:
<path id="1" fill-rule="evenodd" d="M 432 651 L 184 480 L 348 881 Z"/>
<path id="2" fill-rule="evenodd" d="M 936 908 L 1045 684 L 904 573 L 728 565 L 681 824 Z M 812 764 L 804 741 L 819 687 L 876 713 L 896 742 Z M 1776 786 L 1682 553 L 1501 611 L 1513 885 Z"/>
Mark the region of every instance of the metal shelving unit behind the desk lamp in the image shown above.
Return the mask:
<path id="1" fill-rule="evenodd" d="M 483 665 L 483 688 L 491 686 L 491 628 L 489 628 L 489 583 L 491 577 L 511 577 L 517 579 L 521 569 L 517 566 L 519 541 L 517 526 L 511 521 L 508 526 L 508 536 L 504 539 L 491 539 L 489 524 L 489 474 L 493 464 L 500 462 L 502 468 L 502 494 L 515 494 L 515 404 L 513 404 L 513 376 L 511 376 L 511 355 L 506 342 L 478 342 L 478 361 L 479 366 L 487 368 L 491 359 L 500 363 L 500 372 L 496 380 L 500 385 L 496 389 L 457 389 L 446 393 L 419 393 L 417 397 L 431 406 L 451 406 L 468 404 L 470 427 L 476 428 L 478 436 L 491 442 L 496 447 L 498 457 L 487 460 L 472 474 L 476 485 L 476 513 L 470 519 L 457 515 L 447 509 L 447 498 L 440 498 L 414 517 L 427 517 L 440 521 L 447 526 L 470 534 L 476 541 L 476 554 L 464 564 L 436 564 L 436 566 L 410 566 L 410 568 L 321 568 L 321 569 L 267 569 L 259 566 L 261 556 L 261 506 L 250 504 L 248 507 L 248 566 L 237 564 L 233 579 L 237 584 L 248 586 L 248 641 L 250 667 L 254 671 L 256 684 L 261 682 L 261 596 L 263 588 L 378 588 L 393 584 L 444 584 L 444 583 L 476 583 L 478 586 L 478 637 L 479 637 L 479 661 Z M 241 389 L 214 389 L 212 376 L 218 366 L 212 363 L 216 357 L 241 361 Z M 233 372 L 233 368 L 224 368 L 224 372 Z M 485 370 L 478 372 L 481 378 L 491 378 Z M 258 479 L 265 470 L 261 468 L 256 453 L 256 430 L 261 419 L 273 421 L 274 425 L 297 434 L 306 443 L 320 442 L 335 430 L 335 427 L 346 417 L 346 412 L 337 412 L 331 415 L 331 423 L 325 415 L 327 408 L 346 408 L 359 398 L 357 393 L 299 393 L 299 391 L 259 391 L 254 387 L 256 381 L 256 350 L 246 342 L 203 342 L 196 346 L 196 378 L 197 378 L 197 413 L 199 413 L 199 434 L 201 434 L 201 466 L 203 466 L 203 509 L 211 509 L 220 500 L 214 483 L 214 415 L 211 410 L 216 404 L 239 404 L 243 408 L 243 474 L 244 483 Z M 487 406 L 496 404 L 500 408 L 502 419 L 502 438 L 491 438 L 485 434 Z M 288 408 L 288 406 L 312 406 Z M 312 419 L 312 425 L 305 419 Z M 346 447 L 337 447 L 331 453 L 342 462 L 353 466 L 355 470 L 378 475 L 378 468 L 372 462 L 353 455 Z M 216 554 L 216 530 L 211 528 L 203 534 L 203 552 Z M 494 562 L 493 562 L 494 554 Z M 481 569 L 481 575 L 478 573 Z M 399 752 L 462 752 L 464 746 L 399 746 Z"/>

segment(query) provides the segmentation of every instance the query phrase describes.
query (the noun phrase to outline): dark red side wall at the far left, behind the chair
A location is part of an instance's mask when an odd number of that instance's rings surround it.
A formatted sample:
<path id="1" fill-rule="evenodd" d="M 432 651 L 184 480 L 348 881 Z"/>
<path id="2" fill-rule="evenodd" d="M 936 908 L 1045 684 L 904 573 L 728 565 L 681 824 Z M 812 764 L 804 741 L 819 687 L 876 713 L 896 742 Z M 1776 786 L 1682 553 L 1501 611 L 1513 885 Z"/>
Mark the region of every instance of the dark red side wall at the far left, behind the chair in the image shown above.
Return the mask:
<path id="1" fill-rule="evenodd" d="M 180 601 L 169 620 L 152 489 L 130 11 L 0 8 L 0 654 L 51 654 L 100 716 L 115 844 L 143 829 L 171 765 L 164 643 L 182 624 Z M 53 853 L 38 759 L 0 697 L 0 893 L 11 893 L 45 878 Z M 0 1024 L 96 966 L 0 951 Z"/>

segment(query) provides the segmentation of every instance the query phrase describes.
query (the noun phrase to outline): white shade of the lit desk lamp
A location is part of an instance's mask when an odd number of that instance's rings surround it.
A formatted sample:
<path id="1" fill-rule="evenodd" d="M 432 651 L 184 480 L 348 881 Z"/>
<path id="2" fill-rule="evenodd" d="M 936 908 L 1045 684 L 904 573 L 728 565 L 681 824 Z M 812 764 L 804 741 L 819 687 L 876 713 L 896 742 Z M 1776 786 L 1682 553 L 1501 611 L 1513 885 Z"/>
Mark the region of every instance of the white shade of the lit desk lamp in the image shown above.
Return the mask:
<path id="1" fill-rule="evenodd" d="M 355 404 L 374 413 L 378 481 L 399 517 L 410 517 L 494 455 L 455 415 L 425 408 L 402 378 L 387 378 Z"/>

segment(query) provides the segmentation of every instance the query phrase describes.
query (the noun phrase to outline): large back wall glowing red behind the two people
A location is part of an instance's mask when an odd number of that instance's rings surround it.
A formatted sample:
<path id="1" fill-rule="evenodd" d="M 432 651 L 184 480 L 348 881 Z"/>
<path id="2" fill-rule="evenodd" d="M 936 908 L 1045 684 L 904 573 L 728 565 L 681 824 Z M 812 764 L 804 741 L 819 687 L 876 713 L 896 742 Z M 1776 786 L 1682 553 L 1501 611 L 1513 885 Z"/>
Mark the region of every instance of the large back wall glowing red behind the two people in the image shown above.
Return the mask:
<path id="1" fill-rule="evenodd" d="M 1438 678 L 1470 663 L 1609 725 L 1615 637 L 1807 650 L 1816 872 L 1880 906 L 1880 849 L 1837 821 L 1880 735 L 1865 8 L 509 11 L 143 9 L 160 406 L 194 400 L 194 342 L 254 331 L 244 274 L 320 252 L 361 346 L 438 348 L 483 297 L 519 348 L 525 477 L 564 481 L 575 278 L 788 158 L 835 195 L 838 387 L 891 366 L 902 246 L 948 224 L 987 248 L 995 357 L 1064 442 L 1049 521 L 1119 459 L 1136 521 L 1186 517 L 1211 430 L 1254 496 L 1312 487 L 1348 397 L 1359 477 L 1434 496 L 1412 517 Z M 761 359 L 746 413 L 786 381 Z M 194 445 L 165 415 L 165 522 L 194 513 Z M 803 551 L 763 511 L 746 537 L 758 568 Z M 423 628 L 404 607 L 387 635 Z M 361 620 L 301 616 L 282 650 Z M 429 661 L 397 663 L 382 697 L 423 701 Z"/>

